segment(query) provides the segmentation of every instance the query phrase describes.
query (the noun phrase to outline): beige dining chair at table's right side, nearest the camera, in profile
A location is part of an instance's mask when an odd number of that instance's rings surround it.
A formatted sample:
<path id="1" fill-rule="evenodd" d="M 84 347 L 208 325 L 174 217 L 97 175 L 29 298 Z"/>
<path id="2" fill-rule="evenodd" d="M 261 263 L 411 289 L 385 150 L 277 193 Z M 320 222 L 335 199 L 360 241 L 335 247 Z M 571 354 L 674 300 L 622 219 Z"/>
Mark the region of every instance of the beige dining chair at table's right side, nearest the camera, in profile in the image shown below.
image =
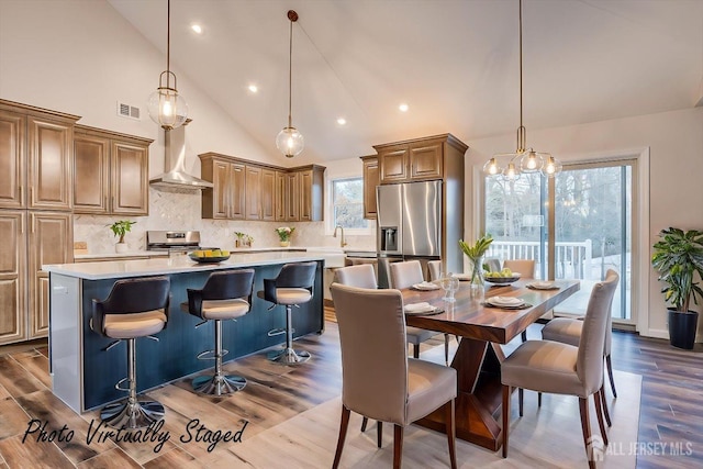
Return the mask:
<path id="1" fill-rule="evenodd" d="M 603 346 L 610 305 L 615 294 L 618 276 L 609 271 L 604 281 L 595 283 L 587 306 L 578 347 L 553 340 L 527 340 L 521 344 L 501 364 L 503 384 L 503 457 L 507 457 L 510 433 L 510 400 L 513 388 L 538 392 L 570 394 L 579 398 L 581 431 L 589 459 L 589 468 L 595 468 L 592 457 L 591 424 L 588 399 L 593 395 L 595 412 L 603 443 L 607 434 L 601 409 L 603 392 Z M 518 399 L 521 395 L 518 394 Z M 522 407 L 522 405 L 521 405 Z M 521 412 L 522 416 L 522 412 Z"/>

